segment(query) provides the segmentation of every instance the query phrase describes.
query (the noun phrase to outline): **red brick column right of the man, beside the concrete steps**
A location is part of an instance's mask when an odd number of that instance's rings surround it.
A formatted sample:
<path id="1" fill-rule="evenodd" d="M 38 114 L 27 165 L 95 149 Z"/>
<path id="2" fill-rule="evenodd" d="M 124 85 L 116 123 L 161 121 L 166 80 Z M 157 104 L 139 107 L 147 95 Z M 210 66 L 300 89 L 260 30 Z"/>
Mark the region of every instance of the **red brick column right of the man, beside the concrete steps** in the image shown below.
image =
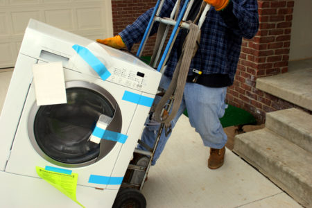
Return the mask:
<path id="1" fill-rule="evenodd" d="M 278 110 L 284 102 L 256 89 L 256 80 L 288 70 L 291 45 L 293 0 L 258 0 L 259 31 L 252 40 L 243 40 L 234 85 L 227 103 L 241 107 L 263 122 L 265 113 Z M 288 106 L 288 104 L 287 104 Z"/>

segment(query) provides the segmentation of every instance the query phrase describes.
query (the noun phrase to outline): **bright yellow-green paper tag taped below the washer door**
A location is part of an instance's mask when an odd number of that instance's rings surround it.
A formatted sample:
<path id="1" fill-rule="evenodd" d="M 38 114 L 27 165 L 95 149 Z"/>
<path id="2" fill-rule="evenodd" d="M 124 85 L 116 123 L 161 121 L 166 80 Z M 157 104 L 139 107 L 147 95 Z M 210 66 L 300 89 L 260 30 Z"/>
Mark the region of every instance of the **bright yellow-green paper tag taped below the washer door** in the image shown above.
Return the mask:
<path id="1" fill-rule="evenodd" d="M 76 187 L 78 173 L 64 174 L 53 171 L 46 171 L 44 168 L 36 167 L 37 174 L 46 182 L 49 182 L 53 187 L 71 198 L 81 207 L 84 207 L 76 200 Z"/>

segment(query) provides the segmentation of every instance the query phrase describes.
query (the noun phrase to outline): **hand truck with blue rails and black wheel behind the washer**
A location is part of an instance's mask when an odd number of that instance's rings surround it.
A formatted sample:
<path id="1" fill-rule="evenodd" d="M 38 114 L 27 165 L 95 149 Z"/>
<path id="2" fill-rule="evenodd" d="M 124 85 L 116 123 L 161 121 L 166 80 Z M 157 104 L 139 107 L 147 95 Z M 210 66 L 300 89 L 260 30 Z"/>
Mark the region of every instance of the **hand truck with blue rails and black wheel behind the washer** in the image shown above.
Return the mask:
<path id="1" fill-rule="evenodd" d="M 171 15 L 169 18 L 162 18 L 159 17 L 160 11 L 162 10 L 162 6 L 164 5 L 165 0 L 157 0 L 156 6 L 153 10 L 153 13 L 150 17 L 150 21 L 148 22 L 148 26 L 144 33 L 144 37 L 141 41 L 139 49 L 137 51 L 137 57 L 141 57 L 141 53 L 144 49 L 148 36 L 150 35 L 150 31 L 153 27 L 155 21 L 158 21 L 162 26 L 166 26 L 165 30 L 162 32 L 162 40 L 159 41 L 158 45 L 155 45 L 155 49 L 150 61 L 150 66 L 156 68 L 157 64 L 157 71 L 164 73 L 164 69 L 166 61 L 168 60 L 168 56 L 171 52 L 172 46 L 175 42 L 175 38 L 180 31 L 180 28 L 187 28 L 189 29 L 189 23 L 186 22 L 191 7 L 193 6 L 194 1 L 197 0 L 185 0 L 183 5 L 180 6 L 181 0 L 177 0 L 173 10 L 171 11 Z M 210 9 L 209 4 L 203 4 L 205 7 L 202 8 L 202 14 L 198 19 L 198 27 L 200 28 L 205 21 L 205 17 L 207 12 Z M 179 12 L 179 8 L 180 12 Z M 164 48 L 164 43 L 168 37 L 168 33 L 170 28 L 173 27 L 173 31 L 169 37 L 168 43 L 166 44 L 166 48 Z M 161 53 L 162 57 L 160 58 Z M 160 60 L 159 60 L 160 58 Z M 162 94 L 163 92 L 157 93 L 157 95 Z M 173 103 L 173 96 L 168 100 L 168 104 L 162 111 L 162 117 L 168 116 L 168 112 L 171 111 L 172 103 Z M 123 178 L 123 182 L 121 184 L 121 189 L 119 189 L 119 193 L 116 196 L 115 202 L 113 207 L 146 207 L 146 199 L 144 198 L 143 194 L 141 194 L 141 190 L 144 187 L 144 183 L 146 182 L 148 171 L 150 169 L 155 150 L 157 148 L 157 144 L 159 142 L 159 138 L 162 135 L 162 131 L 165 128 L 165 133 L 168 135 L 171 132 L 171 128 L 166 126 L 165 123 L 161 123 L 158 129 L 157 137 L 155 139 L 155 144 L 153 148 L 150 148 L 143 141 L 140 139 L 138 140 L 138 144 L 144 146 L 147 150 L 139 150 L 135 149 L 134 157 L 130 161 L 128 165 L 128 169 L 125 173 Z"/>

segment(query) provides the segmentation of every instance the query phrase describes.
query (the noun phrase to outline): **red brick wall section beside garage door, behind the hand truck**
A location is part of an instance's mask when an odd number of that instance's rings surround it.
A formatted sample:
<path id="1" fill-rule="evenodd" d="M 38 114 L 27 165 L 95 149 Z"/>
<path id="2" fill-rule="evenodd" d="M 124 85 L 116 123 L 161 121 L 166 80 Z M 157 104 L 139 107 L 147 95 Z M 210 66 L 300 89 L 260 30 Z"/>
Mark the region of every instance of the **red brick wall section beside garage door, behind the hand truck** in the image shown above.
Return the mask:
<path id="1" fill-rule="evenodd" d="M 157 0 L 112 0 L 112 19 L 114 35 L 132 24 L 139 15 L 156 5 Z M 156 36 L 148 38 L 143 55 L 152 55 Z M 136 53 L 139 43 L 132 47 L 131 52 Z"/>

